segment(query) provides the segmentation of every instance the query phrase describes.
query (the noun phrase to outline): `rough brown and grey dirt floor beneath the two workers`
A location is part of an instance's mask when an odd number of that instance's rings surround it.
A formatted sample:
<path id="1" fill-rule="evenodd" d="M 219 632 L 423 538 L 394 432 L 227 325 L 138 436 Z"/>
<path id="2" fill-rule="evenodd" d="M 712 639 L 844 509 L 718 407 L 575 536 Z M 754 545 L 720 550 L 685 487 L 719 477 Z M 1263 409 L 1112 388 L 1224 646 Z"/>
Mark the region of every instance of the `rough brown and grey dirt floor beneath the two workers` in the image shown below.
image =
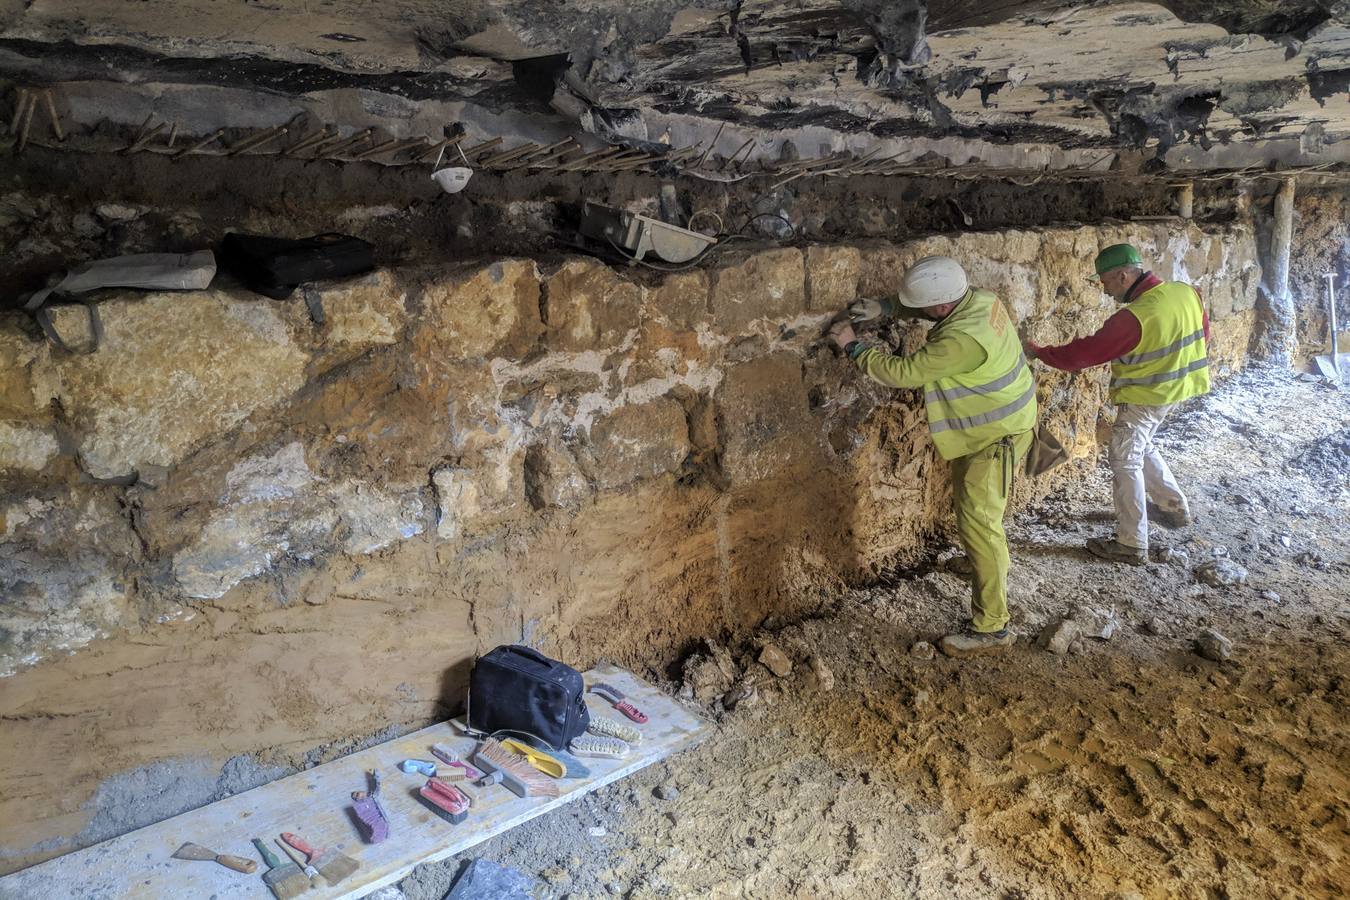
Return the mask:
<path id="1" fill-rule="evenodd" d="M 732 648 L 730 695 L 753 692 L 733 711 L 701 704 L 716 722 L 703 745 L 473 855 L 537 877 L 541 897 L 1343 896 L 1350 395 L 1249 368 L 1162 441 L 1200 517 L 1156 534 L 1168 561 L 1081 549 L 1111 528 L 1099 464 L 1010 526 L 1006 656 L 915 652 L 965 614 L 948 548 L 771 622 L 760 641 L 792 672 Z M 1246 583 L 1199 580 L 1215 559 Z M 1037 645 L 1081 607 L 1119 630 L 1066 654 Z M 1228 661 L 1195 652 L 1206 627 L 1233 641 Z M 732 684 L 705 656 L 686 694 Z M 400 889 L 441 897 L 458 865 Z"/>

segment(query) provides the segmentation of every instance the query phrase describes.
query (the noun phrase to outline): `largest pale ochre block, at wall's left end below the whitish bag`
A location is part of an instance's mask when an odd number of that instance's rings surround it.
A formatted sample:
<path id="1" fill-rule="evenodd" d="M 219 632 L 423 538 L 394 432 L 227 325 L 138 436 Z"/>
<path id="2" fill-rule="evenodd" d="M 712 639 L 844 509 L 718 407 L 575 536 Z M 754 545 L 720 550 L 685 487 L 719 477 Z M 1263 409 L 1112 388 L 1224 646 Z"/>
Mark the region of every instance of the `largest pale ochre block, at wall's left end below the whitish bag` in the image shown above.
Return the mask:
<path id="1" fill-rule="evenodd" d="M 84 308 L 57 308 L 61 333 Z M 50 355 L 35 382 L 61 399 L 96 478 L 173 466 L 304 383 L 308 355 L 266 300 L 219 290 L 116 294 L 100 301 L 96 354 Z"/>

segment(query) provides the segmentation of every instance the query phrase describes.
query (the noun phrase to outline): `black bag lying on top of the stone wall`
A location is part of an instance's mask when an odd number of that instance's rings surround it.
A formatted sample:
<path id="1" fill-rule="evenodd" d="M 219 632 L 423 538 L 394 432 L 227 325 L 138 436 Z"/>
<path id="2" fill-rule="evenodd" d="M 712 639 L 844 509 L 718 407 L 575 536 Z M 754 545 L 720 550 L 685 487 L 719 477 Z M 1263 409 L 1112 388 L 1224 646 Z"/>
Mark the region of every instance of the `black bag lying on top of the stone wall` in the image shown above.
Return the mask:
<path id="1" fill-rule="evenodd" d="M 230 232 L 219 258 L 250 290 L 273 300 L 290 297 L 306 281 L 356 275 L 375 267 L 374 247 L 360 237 L 336 233 L 290 240 Z"/>

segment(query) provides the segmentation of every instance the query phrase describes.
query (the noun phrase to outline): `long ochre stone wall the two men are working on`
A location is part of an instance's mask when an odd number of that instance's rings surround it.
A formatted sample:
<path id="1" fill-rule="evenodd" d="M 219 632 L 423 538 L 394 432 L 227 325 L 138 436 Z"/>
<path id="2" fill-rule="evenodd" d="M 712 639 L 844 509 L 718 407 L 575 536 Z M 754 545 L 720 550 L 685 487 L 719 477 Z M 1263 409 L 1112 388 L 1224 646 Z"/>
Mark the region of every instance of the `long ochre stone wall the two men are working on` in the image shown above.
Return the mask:
<path id="1" fill-rule="evenodd" d="M 298 296 L 120 293 L 85 356 L 4 320 L 0 870 L 443 716 L 500 642 L 655 667 L 917 557 L 950 524 L 918 393 L 824 322 L 942 252 L 1068 339 L 1126 239 L 1241 364 L 1251 232 L 1180 223 L 400 269 L 327 286 L 321 327 Z M 1092 456 L 1104 371 L 1038 378 Z"/>

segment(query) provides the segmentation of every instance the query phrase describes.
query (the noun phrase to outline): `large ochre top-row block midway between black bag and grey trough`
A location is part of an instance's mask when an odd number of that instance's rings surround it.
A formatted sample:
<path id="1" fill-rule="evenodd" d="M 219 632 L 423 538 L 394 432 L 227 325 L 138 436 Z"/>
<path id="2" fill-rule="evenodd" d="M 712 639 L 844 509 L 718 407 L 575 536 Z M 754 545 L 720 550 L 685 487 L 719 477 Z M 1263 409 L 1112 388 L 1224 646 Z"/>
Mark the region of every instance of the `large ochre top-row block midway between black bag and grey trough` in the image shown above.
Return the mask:
<path id="1" fill-rule="evenodd" d="M 502 259 L 424 278 L 417 352 L 456 359 L 522 356 L 544 332 L 533 260 Z"/>

